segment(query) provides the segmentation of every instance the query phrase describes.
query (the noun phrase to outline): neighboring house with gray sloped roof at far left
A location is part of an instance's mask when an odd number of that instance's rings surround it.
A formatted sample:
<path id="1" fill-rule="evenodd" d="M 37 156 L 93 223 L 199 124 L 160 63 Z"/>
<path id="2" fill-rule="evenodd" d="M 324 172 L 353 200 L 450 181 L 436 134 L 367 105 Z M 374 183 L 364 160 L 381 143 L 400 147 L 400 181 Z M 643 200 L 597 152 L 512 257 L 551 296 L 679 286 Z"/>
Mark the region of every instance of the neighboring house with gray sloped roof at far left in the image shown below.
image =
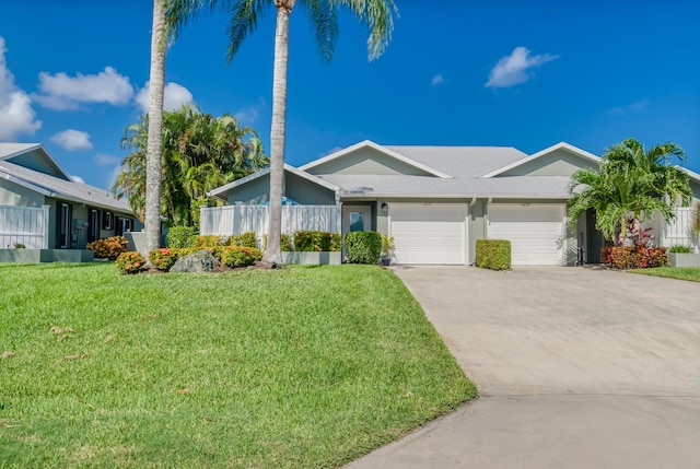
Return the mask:
<path id="1" fill-rule="evenodd" d="M 128 203 L 77 183 L 37 143 L 0 143 L 0 248 L 84 249 L 140 230 Z"/>

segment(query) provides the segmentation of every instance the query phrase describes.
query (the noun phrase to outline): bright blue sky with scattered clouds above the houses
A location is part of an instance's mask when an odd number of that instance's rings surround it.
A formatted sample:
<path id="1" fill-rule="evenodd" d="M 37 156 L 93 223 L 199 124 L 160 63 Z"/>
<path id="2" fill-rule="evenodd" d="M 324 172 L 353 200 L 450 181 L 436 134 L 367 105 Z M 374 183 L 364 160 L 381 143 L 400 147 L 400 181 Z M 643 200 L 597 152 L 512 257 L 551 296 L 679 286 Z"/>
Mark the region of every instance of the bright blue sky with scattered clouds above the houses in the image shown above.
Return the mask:
<path id="1" fill-rule="evenodd" d="M 287 162 L 364 139 L 380 144 L 567 141 L 595 154 L 635 137 L 674 141 L 700 172 L 700 5 L 693 1 L 396 0 L 378 60 L 343 14 L 324 62 L 306 12 L 290 22 Z M 439 5 L 439 7 L 438 7 Z M 137 121 L 151 2 L 2 0 L 0 141 L 40 142 L 70 173 L 108 187 Z M 166 105 L 194 101 L 255 127 L 269 150 L 275 14 L 226 65 L 226 15 L 190 23 L 167 56 Z"/>

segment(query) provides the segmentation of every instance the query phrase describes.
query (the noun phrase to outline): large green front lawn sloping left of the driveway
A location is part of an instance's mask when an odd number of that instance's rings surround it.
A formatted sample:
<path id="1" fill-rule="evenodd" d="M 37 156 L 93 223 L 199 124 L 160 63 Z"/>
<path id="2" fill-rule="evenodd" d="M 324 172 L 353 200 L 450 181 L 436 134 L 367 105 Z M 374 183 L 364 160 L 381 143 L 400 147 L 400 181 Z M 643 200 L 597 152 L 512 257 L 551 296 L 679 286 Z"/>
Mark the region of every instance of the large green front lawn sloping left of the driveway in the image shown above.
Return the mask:
<path id="1" fill-rule="evenodd" d="M 474 398 L 389 271 L 0 265 L 0 468 L 337 467 Z"/>

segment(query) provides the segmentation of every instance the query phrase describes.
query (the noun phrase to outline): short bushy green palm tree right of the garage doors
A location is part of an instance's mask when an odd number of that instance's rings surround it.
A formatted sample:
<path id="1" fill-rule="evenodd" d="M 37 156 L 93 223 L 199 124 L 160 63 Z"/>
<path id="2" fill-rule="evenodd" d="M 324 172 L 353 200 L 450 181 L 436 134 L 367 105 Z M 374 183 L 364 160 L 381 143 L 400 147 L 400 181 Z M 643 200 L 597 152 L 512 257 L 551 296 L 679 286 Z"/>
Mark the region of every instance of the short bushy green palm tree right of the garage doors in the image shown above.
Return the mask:
<path id="1" fill-rule="evenodd" d="M 688 206 L 692 198 L 688 175 L 673 166 L 676 161 L 682 163 L 685 152 L 675 143 L 645 151 L 638 140 L 627 139 L 610 146 L 599 172 L 579 169 L 571 176 L 570 223 L 594 209 L 596 228 L 620 246 L 628 238 L 628 225 L 649 222 L 656 212 L 669 222 L 675 207 Z"/>

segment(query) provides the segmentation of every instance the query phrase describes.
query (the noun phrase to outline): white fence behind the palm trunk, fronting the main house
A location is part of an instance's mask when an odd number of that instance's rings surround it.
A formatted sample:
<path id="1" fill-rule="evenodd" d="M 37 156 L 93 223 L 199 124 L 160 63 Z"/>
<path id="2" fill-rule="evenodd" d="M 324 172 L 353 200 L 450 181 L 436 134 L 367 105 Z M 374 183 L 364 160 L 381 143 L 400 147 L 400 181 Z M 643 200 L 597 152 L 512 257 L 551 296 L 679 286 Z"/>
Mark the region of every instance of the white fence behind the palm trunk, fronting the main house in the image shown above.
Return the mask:
<path id="1" fill-rule="evenodd" d="M 258 237 L 268 233 L 268 207 L 237 203 L 225 207 L 202 207 L 199 234 L 231 236 L 255 232 Z M 282 233 L 314 230 L 340 232 L 339 210 L 336 206 L 282 206 Z"/>

